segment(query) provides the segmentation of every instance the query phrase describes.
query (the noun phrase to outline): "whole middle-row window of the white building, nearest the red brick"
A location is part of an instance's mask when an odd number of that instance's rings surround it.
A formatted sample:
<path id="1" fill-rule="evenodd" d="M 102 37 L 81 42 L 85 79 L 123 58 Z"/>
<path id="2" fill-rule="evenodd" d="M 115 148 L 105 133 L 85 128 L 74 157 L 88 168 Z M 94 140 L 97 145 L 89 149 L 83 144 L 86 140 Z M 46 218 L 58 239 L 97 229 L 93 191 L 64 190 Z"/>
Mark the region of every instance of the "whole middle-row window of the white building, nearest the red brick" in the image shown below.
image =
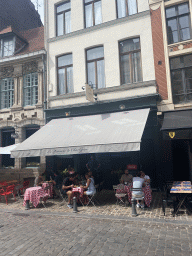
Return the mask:
<path id="1" fill-rule="evenodd" d="M 121 84 L 142 81 L 140 39 L 132 38 L 119 43 Z"/>

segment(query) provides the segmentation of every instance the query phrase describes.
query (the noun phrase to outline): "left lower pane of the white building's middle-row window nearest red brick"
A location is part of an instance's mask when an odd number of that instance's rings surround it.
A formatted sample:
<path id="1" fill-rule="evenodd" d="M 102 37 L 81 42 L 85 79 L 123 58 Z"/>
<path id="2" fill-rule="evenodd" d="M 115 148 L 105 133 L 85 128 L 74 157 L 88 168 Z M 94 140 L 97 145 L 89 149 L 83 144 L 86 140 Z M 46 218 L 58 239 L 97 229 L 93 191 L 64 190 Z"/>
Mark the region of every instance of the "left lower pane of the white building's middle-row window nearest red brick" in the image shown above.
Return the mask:
<path id="1" fill-rule="evenodd" d="M 122 84 L 131 83 L 129 54 L 121 56 L 121 80 Z"/>

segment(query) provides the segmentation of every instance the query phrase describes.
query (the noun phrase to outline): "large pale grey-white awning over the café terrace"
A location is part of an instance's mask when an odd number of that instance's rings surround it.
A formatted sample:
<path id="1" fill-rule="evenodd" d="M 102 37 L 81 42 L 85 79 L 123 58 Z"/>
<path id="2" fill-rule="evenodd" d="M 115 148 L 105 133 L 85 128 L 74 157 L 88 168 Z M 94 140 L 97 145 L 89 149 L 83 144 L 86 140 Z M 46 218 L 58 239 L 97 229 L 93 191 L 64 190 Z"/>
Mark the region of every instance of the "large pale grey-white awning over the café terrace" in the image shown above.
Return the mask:
<path id="1" fill-rule="evenodd" d="M 11 157 L 139 151 L 150 109 L 54 119 Z"/>

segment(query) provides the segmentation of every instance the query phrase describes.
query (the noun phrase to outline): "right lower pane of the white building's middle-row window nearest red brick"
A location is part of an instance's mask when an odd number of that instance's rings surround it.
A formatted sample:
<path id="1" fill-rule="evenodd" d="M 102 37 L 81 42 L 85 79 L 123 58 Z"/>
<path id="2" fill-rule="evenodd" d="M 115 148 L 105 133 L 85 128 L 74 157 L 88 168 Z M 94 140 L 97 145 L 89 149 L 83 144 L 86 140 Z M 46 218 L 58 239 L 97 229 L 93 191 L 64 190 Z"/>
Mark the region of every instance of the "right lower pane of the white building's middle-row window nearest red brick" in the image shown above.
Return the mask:
<path id="1" fill-rule="evenodd" d="M 133 83 L 142 81 L 140 52 L 132 54 Z"/>

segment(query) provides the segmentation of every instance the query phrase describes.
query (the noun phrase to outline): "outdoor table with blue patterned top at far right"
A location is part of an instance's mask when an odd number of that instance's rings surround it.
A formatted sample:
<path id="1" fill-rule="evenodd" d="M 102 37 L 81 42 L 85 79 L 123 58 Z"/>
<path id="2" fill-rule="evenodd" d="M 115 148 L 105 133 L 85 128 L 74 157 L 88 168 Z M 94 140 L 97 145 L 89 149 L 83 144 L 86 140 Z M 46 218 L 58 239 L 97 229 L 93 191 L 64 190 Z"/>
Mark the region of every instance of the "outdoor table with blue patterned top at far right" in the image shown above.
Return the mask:
<path id="1" fill-rule="evenodd" d="M 192 196 L 191 181 L 174 181 L 170 193 L 176 194 L 179 201 L 175 214 L 178 213 L 181 206 L 184 206 L 187 209 L 187 198 Z"/>

